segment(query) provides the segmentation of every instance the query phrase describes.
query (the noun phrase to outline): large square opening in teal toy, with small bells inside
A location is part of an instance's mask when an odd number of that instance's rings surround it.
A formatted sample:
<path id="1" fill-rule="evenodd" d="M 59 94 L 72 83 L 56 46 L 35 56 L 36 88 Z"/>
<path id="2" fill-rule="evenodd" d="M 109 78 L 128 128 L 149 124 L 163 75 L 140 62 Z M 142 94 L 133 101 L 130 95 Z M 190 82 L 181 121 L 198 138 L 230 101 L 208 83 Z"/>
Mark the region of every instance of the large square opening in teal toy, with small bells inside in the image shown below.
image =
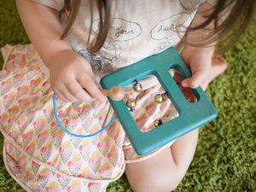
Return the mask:
<path id="1" fill-rule="evenodd" d="M 154 75 L 150 75 L 154 79 L 154 86 L 149 86 L 147 90 L 131 91 L 125 94 L 124 102 L 126 103 L 127 110 L 130 111 L 132 119 L 135 121 L 137 128 L 142 132 L 148 132 L 157 128 L 158 125 L 165 124 L 166 122 L 175 119 L 179 116 L 177 109 L 172 104 L 170 98 L 165 94 L 166 90 L 162 88 L 160 82 Z M 148 76 L 149 77 L 149 76 Z M 149 80 L 147 78 L 147 80 Z M 138 83 L 143 82 L 141 79 Z M 132 87 L 135 83 L 129 84 L 127 87 Z M 145 88 L 143 88 L 145 89 Z M 157 95 L 163 95 L 162 102 L 155 102 Z M 135 107 L 129 108 L 128 102 L 136 102 Z"/>

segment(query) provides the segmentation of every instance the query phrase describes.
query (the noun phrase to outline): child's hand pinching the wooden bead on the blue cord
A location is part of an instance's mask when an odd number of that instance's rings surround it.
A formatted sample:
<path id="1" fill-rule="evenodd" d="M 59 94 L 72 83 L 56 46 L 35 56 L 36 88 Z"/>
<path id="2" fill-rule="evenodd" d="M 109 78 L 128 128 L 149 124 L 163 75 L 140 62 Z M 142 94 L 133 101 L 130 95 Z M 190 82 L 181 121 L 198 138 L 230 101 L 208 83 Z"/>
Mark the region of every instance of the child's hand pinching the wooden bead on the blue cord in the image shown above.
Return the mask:
<path id="1" fill-rule="evenodd" d="M 62 50 L 52 56 L 48 67 L 51 87 L 63 101 L 104 101 L 90 64 L 73 50 Z"/>

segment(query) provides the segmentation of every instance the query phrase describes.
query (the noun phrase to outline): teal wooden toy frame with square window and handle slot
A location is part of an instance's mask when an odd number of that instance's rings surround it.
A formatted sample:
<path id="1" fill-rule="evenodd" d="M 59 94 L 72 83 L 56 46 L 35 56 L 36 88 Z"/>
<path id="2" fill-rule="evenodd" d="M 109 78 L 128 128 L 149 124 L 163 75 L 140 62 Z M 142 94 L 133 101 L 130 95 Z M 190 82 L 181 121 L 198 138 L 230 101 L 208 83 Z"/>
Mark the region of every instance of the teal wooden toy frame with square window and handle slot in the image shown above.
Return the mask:
<path id="1" fill-rule="evenodd" d="M 189 68 L 177 53 L 177 50 L 169 48 L 158 55 L 152 55 L 129 67 L 121 68 L 101 79 L 102 88 L 109 90 L 114 85 L 125 87 L 128 84 L 133 84 L 136 80 L 153 74 L 159 80 L 163 89 L 166 90 L 167 96 L 177 109 L 179 113 L 177 118 L 159 125 L 151 131 L 142 132 L 137 128 L 125 102 L 123 100 L 116 102 L 108 97 L 108 101 L 111 103 L 127 137 L 130 139 L 131 145 L 139 155 L 148 154 L 154 149 L 160 148 L 177 137 L 181 137 L 189 131 L 207 124 L 218 115 L 201 87 L 192 90 L 197 102 L 188 102 L 168 72 L 171 68 L 177 69 L 182 74 L 183 79 L 191 77 Z"/>

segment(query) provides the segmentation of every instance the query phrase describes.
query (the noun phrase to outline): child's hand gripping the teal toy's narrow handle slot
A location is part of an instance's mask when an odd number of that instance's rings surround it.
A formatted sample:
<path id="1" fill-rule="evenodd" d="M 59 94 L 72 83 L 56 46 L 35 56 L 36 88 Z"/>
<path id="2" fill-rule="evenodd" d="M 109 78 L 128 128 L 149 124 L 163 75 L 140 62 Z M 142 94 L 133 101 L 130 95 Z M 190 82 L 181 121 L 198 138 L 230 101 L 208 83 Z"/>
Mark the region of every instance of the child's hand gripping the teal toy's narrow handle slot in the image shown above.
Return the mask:
<path id="1" fill-rule="evenodd" d="M 191 70 L 192 77 L 182 81 L 183 87 L 197 88 L 210 74 L 214 48 L 196 48 L 186 45 L 181 54 L 183 61 Z"/>

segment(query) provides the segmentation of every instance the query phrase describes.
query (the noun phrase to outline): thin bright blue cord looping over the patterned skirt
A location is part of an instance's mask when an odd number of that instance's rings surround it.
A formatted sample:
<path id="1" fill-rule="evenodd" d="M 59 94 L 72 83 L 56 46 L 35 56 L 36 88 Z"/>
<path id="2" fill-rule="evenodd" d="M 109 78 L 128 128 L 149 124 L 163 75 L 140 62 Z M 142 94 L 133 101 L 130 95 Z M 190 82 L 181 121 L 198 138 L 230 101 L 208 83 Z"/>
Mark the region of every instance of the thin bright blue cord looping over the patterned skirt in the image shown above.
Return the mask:
<path id="1" fill-rule="evenodd" d="M 58 118 L 58 113 L 57 113 L 57 108 L 56 108 L 55 97 L 56 97 L 56 95 L 55 95 L 55 93 L 54 93 L 54 95 L 53 95 L 53 106 L 54 106 L 54 110 L 55 110 L 55 119 L 57 120 L 58 125 L 61 127 L 61 130 L 65 131 L 65 132 L 66 132 L 67 134 L 69 134 L 69 135 L 72 135 L 73 137 L 82 137 L 82 138 L 86 138 L 86 137 L 93 137 L 93 136 L 96 136 L 96 135 L 99 134 L 100 132 L 102 132 L 102 131 L 108 129 L 108 127 L 109 127 L 111 124 L 113 124 L 113 121 L 116 119 L 116 116 L 114 116 L 113 119 L 108 123 L 108 125 L 106 125 L 106 126 L 103 127 L 100 131 L 96 131 L 96 132 L 93 133 L 93 134 L 85 135 L 85 136 L 84 136 L 84 135 L 77 135 L 77 134 L 74 134 L 74 133 L 72 133 L 72 132 L 70 132 L 70 131 L 67 131 L 67 130 L 61 125 L 61 122 L 60 122 L 60 120 L 59 120 L 59 118 Z"/>

